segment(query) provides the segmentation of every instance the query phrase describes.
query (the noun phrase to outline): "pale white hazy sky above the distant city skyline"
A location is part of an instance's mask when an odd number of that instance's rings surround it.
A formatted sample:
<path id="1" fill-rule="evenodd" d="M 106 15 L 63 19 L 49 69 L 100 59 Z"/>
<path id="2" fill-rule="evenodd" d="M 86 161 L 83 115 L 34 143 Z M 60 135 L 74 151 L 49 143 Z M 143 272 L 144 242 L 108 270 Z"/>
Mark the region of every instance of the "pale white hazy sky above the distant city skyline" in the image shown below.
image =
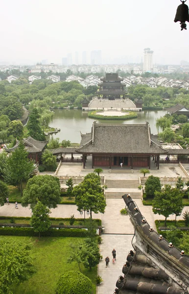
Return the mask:
<path id="1" fill-rule="evenodd" d="M 189 61 L 188 30 L 174 23 L 180 0 L 2 0 L 0 61 L 61 63 L 75 51 L 102 50 L 102 58 L 140 61 L 143 49 L 154 62 Z M 189 0 L 186 2 L 189 5 Z M 106 59 L 105 59 L 106 58 Z M 138 62 L 139 62 L 138 61 Z"/>

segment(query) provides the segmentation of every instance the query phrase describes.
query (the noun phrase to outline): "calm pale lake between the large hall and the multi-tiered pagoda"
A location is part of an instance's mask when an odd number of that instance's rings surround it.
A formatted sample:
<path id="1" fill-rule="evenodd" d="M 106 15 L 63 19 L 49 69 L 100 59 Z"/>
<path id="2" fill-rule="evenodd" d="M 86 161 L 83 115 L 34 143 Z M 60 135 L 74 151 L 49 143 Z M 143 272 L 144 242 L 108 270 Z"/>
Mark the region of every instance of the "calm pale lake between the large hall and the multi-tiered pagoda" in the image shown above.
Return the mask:
<path id="1" fill-rule="evenodd" d="M 91 132 L 91 127 L 94 119 L 88 118 L 88 112 L 79 109 L 54 109 L 54 116 L 51 127 L 59 127 L 61 130 L 57 134 L 53 134 L 53 138 L 62 140 L 70 140 L 72 143 L 80 143 L 82 134 Z M 157 134 L 156 119 L 164 116 L 166 110 L 159 111 L 141 111 L 137 112 L 138 118 L 126 121 L 117 120 L 96 120 L 97 123 L 117 123 L 117 124 L 132 124 L 145 123 L 150 124 L 151 133 Z"/>

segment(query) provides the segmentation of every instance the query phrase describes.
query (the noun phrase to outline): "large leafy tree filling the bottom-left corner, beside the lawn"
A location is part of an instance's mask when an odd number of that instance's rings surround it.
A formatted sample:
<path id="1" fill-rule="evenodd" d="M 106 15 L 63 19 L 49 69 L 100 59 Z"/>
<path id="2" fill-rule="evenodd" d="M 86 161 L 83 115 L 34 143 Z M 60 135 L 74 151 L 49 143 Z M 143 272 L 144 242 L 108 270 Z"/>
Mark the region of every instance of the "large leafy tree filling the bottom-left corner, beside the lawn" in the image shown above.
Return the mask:
<path id="1" fill-rule="evenodd" d="M 0 239 L 0 294 L 13 294 L 11 286 L 28 280 L 34 272 L 28 245 Z"/>

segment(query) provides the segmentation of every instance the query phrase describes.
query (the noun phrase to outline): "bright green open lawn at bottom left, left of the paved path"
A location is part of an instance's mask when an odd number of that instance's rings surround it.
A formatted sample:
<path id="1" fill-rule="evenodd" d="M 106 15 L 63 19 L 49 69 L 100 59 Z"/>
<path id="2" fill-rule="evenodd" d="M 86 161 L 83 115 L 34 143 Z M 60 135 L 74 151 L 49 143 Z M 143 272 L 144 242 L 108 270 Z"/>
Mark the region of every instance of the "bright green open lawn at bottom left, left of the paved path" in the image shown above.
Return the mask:
<path id="1" fill-rule="evenodd" d="M 21 285 L 12 287 L 14 294 L 55 294 L 56 283 L 63 273 L 69 270 L 79 270 L 76 263 L 67 263 L 70 256 L 70 244 L 74 244 L 81 238 L 69 237 L 42 237 L 36 238 L 1 236 L 1 239 L 25 242 L 31 244 L 32 256 L 35 259 L 37 272 Z M 82 273 L 93 282 L 93 292 L 96 293 L 95 278 L 97 267 L 91 271 L 81 266 Z"/>

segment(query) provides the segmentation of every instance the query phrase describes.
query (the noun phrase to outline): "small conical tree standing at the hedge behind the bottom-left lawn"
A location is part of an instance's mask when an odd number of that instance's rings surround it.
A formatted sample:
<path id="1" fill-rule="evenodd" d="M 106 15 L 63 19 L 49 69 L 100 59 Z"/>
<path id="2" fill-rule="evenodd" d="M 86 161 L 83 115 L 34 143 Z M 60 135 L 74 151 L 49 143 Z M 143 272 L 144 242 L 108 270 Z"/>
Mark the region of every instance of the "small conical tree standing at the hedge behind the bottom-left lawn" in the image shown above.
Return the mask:
<path id="1" fill-rule="evenodd" d="M 49 220 L 49 214 L 50 209 L 40 201 L 37 202 L 32 210 L 30 224 L 34 229 L 34 232 L 39 232 L 39 239 L 40 233 L 46 232 L 50 227 L 51 222 Z"/>

